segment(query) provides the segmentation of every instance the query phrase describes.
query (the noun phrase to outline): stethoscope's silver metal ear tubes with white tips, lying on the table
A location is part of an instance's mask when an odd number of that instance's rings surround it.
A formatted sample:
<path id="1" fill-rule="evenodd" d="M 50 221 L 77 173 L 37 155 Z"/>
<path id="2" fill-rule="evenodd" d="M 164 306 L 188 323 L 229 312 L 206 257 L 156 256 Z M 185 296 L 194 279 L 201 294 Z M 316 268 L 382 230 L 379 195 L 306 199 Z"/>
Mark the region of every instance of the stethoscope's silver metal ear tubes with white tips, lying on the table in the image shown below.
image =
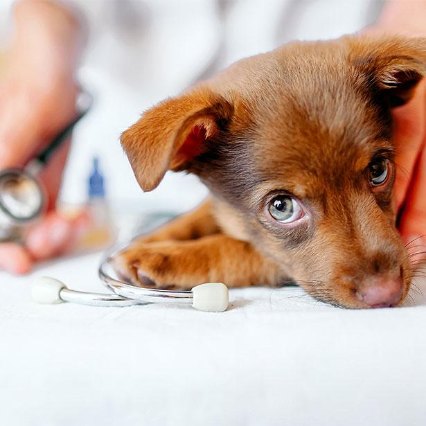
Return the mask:
<path id="1" fill-rule="evenodd" d="M 71 302 L 91 306 L 145 305 L 147 303 L 186 303 L 197 310 L 223 312 L 229 303 L 228 287 L 222 283 L 204 283 L 192 290 L 160 290 L 137 287 L 114 277 L 111 257 L 100 263 L 98 274 L 112 293 L 90 293 L 70 290 L 56 278 L 37 278 L 31 288 L 31 298 L 37 303 Z"/>

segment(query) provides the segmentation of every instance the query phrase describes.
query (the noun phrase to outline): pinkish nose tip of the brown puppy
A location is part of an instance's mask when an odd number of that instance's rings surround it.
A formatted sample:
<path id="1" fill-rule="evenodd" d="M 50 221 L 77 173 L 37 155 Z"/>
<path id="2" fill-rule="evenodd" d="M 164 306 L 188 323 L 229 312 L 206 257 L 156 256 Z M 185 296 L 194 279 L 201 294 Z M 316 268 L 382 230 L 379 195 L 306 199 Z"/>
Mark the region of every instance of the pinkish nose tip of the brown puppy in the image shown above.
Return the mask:
<path id="1" fill-rule="evenodd" d="M 374 278 L 357 290 L 357 297 L 370 308 L 389 308 L 401 300 L 403 289 L 400 276 Z"/>

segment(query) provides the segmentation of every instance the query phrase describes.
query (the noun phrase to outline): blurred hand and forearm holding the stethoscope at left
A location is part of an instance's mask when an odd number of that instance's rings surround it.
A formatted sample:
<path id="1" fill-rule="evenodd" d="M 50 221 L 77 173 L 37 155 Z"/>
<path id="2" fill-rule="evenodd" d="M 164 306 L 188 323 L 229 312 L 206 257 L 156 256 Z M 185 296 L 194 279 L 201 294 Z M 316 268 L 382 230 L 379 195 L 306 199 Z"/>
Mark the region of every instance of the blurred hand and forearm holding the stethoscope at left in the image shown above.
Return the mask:
<path id="1" fill-rule="evenodd" d="M 15 33 L 0 69 L 0 170 L 23 167 L 76 116 L 75 73 L 83 44 L 76 15 L 47 0 L 23 0 L 13 10 Z M 0 244 L 0 268 L 21 274 L 36 260 L 69 250 L 87 218 L 55 212 L 69 141 L 40 176 L 46 217 L 28 229 L 24 245 Z"/>

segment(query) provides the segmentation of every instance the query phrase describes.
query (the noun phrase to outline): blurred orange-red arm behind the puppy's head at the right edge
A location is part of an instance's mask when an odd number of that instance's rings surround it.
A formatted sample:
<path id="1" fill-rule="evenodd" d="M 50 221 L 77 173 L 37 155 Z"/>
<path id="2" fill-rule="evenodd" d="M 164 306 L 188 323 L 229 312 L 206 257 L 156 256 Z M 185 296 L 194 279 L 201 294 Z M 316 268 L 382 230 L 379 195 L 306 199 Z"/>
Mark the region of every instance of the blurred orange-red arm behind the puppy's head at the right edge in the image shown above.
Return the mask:
<path id="1" fill-rule="evenodd" d="M 426 37 L 426 0 L 391 0 L 373 26 L 372 33 Z M 425 38 L 426 51 L 426 38 Z M 426 52 L 425 52 L 426 53 Z M 426 81 L 420 82 L 414 98 L 393 110 L 395 121 L 397 180 L 396 205 L 400 233 L 408 243 L 426 244 Z M 422 251 L 418 249 L 417 251 Z"/>

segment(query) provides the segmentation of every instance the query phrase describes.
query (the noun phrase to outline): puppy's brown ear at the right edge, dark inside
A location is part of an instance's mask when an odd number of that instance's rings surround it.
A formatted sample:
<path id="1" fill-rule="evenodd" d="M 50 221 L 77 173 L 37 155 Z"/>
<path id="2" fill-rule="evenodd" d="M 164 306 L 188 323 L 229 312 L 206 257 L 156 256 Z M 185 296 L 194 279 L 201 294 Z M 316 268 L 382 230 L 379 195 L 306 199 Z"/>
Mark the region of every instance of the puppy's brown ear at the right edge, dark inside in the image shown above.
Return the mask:
<path id="1" fill-rule="evenodd" d="M 353 62 L 391 107 L 407 103 L 426 75 L 426 38 L 355 37 Z"/>

